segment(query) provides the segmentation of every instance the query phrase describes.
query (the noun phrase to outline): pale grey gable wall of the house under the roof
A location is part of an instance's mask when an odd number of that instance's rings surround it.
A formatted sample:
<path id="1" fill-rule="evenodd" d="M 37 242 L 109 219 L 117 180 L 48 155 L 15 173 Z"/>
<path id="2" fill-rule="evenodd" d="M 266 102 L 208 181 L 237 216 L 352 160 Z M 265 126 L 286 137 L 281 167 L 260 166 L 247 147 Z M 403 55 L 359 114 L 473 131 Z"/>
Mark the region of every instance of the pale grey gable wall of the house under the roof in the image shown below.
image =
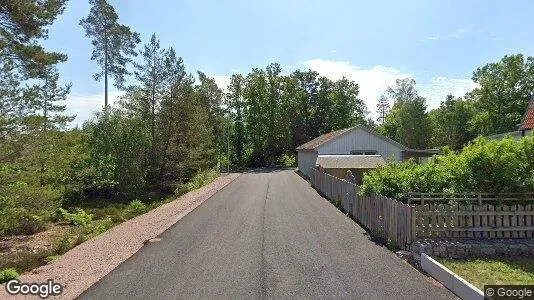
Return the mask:
<path id="1" fill-rule="evenodd" d="M 402 160 L 402 149 L 360 128 L 326 142 L 317 148 L 323 154 L 350 154 L 352 150 L 376 150 L 386 160 Z"/>

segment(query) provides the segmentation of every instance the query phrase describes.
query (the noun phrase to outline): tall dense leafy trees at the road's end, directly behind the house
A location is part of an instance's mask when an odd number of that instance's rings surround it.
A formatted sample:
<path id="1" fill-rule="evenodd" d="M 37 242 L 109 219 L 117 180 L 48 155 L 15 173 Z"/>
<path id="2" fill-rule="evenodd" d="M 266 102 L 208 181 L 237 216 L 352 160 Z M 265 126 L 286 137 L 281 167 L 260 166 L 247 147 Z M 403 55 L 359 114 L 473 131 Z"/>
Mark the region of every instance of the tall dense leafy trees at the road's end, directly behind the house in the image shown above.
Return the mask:
<path id="1" fill-rule="evenodd" d="M 365 122 L 359 86 L 314 71 L 282 75 L 279 64 L 232 77 L 227 104 L 232 164 L 269 166 L 321 134 Z"/>

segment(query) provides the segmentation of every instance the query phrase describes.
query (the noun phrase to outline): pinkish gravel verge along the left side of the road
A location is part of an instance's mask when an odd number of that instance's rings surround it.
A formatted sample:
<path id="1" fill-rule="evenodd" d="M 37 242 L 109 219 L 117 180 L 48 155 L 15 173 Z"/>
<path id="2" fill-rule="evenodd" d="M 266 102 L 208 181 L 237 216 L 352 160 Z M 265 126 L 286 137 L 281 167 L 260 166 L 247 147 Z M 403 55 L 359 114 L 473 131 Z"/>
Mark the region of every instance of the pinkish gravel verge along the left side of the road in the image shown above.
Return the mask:
<path id="1" fill-rule="evenodd" d="M 48 279 L 53 279 L 64 287 L 63 293 L 54 299 L 76 298 L 139 251 L 147 240 L 163 233 L 240 175 L 232 173 L 220 176 L 207 186 L 123 222 L 76 246 L 58 260 L 23 274 L 20 280 L 25 283 L 45 283 Z M 7 293 L 5 284 L 0 286 L 0 299 L 37 298 L 11 296 Z"/>

